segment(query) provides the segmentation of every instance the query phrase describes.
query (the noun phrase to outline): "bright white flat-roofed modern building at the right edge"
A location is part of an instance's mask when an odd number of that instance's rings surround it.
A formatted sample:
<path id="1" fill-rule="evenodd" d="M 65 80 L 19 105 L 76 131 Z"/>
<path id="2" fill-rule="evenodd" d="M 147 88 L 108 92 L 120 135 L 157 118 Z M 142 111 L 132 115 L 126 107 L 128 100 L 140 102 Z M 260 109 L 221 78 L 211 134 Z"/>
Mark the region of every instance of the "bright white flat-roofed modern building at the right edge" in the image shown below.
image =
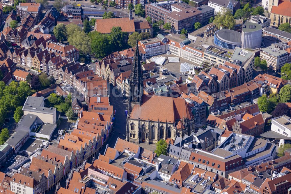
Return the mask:
<path id="1" fill-rule="evenodd" d="M 291 118 L 283 115 L 272 119 L 271 131 L 291 137 Z"/>

